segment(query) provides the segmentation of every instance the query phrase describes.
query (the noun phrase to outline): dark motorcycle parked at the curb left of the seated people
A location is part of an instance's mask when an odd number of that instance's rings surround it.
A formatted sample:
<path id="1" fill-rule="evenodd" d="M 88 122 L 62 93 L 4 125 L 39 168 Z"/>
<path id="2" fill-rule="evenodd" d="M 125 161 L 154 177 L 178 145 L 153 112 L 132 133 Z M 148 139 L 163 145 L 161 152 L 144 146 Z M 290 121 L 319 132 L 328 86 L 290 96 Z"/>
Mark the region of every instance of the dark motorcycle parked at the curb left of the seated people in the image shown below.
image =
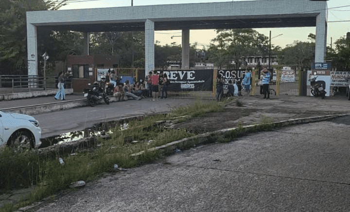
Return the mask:
<path id="1" fill-rule="evenodd" d="M 98 82 L 94 82 L 92 86 L 89 83 L 88 88 L 84 88 L 83 94 L 84 97 L 87 98 L 91 107 L 97 105 L 97 103 L 102 99 L 104 99 L 106 104 L 109 104 L 109 98 Z"/>

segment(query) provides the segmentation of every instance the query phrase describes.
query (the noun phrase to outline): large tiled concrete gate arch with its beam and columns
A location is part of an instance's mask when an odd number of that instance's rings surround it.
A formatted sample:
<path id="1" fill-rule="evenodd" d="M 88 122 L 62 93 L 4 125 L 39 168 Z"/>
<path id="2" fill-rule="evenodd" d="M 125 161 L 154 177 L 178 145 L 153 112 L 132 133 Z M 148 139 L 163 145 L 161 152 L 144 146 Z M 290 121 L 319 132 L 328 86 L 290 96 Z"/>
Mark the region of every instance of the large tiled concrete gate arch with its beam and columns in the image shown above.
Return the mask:
<path id="1" fill-rule="evenodd" d="M 254 0 L 27 12 L 28 75 L 38 74 L 37 31 L 144 31 L 145 75 L 155 68 L 154 32 L 182 30 L 182 64 L 189 67 L 193 29 L 316 27 L 315 62 L 324 62 L 327 2 Z M 88 36 L 87 36 L 88 37 Z M 88 41 L 86 42 L 88 54 Z M 40 52 L 41 55 L 41 52 Z"/>

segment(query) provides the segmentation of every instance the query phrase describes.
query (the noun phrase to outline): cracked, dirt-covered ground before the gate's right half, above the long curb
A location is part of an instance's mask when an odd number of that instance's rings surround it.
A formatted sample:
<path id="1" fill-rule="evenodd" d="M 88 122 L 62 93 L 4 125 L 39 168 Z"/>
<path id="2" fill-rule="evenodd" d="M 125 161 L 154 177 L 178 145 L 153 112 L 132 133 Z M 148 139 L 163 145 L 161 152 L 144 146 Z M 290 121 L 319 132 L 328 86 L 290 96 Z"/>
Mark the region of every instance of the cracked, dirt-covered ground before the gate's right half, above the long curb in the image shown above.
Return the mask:
<path id="1" fill-rule="evenodd" d="M 334 98 L 280 97 L 262 99 L 261 96 L 240 97 L 227 103 L 224 111 L 209 113 L 175 124 L 174 128 L 186 128 L 194 133 L 234 128 L 238 125 L 251 125 L 271 121 L 313 117 L 328 114 L 348 113 L 349 102 Z M 238 106 L 237 101 L 241 104 Z M 344 103 L 344 105 L 342 105 Z M 334 108 L 333 104 L 337 104 Z"/>

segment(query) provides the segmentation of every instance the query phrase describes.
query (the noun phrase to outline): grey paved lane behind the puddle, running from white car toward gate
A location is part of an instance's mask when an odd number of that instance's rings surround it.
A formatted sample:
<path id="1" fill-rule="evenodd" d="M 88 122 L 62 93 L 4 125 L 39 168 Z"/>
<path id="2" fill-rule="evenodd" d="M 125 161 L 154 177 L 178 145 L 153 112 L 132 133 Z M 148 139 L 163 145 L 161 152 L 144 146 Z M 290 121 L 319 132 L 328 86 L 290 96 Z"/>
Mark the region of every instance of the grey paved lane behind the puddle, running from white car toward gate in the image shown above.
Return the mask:
<path id="1" fill-rule="evenodd" d="M 52 98 L 53 99 L 53 98 Z M 81 107 L 65 111 L 35 114 L 42 130 L 42 138 L 75 130 L 84 130 L 94 124 L 110 120 L 118 120 L 136 115 L 167 113 L 175 107 L 193 104 L 196 99 L 167 98 L 150 101 L 149 98 L 111 102 L 95 107 Z"/>

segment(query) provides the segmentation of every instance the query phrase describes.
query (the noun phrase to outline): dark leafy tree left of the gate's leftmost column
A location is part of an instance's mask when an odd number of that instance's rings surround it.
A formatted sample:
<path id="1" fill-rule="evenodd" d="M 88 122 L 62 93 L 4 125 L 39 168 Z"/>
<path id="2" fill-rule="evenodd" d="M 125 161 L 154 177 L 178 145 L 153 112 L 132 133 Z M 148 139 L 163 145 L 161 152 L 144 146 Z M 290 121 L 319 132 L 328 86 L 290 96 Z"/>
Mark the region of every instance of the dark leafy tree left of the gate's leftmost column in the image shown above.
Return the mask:
<path id="1" fill-rule="evenodd" d="M 0 71 L 3 74 L 27 72 L 26 12 L 57 10 L 67 0 L 0 1 Z"/>

